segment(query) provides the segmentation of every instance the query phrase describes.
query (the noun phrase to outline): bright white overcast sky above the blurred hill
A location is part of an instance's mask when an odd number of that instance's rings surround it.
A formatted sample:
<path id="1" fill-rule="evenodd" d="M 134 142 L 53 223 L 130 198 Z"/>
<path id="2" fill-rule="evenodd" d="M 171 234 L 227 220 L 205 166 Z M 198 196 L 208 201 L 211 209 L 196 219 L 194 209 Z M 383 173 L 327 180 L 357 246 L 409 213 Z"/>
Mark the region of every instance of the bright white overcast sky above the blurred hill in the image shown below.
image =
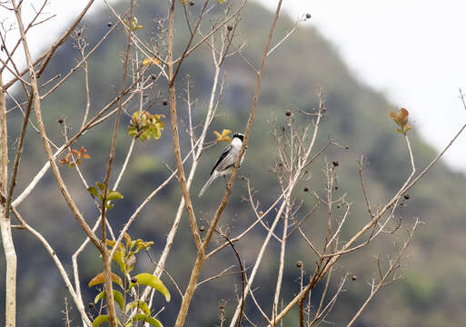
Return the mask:
<path id="1" fill-rule="evenodd" d="M 276 5 L 258 1 L 270 8 Z M 60 14 L 31 35 L 36 50 L 86 2 L 51 0 L 49 12 Z M 97 6 L 102 5 L 98 1 Z M 283 8 L 294 17 L 312 14 L 304 25 L 316 26 L 357 78 L 382 91 L 394 105 L 406 107 L 413 128 L 437 149 L 466 123 L 458 99 L 459 87 L 466 92 L 466 1 L 283 0 Z M 466 172 L 466 134 L 446 159 Z"/>

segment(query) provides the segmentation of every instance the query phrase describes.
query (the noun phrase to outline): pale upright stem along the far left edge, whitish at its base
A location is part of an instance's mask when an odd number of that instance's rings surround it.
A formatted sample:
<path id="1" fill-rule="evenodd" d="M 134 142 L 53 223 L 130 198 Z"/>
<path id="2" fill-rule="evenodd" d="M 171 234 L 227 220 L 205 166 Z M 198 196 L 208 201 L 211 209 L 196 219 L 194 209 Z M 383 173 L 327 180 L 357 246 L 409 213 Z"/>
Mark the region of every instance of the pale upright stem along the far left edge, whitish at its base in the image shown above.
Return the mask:
<path id="1" fill-rule="evenodd" d="M 0 74 L 0 190 L 6 194 L 8 182 L 8 139 L 6 131 L 6 102 L 3 88 L 2 75 Z M 5 200 L 5 199 L 4 199 Z M 4 245 L 6 260 L 5 276 L 5 326 L 16 325 L 16 253 L 11 233 L 11 222 L 6 201 L 2 201 L 0 215 L 0 229 L 2 243 Z"/>

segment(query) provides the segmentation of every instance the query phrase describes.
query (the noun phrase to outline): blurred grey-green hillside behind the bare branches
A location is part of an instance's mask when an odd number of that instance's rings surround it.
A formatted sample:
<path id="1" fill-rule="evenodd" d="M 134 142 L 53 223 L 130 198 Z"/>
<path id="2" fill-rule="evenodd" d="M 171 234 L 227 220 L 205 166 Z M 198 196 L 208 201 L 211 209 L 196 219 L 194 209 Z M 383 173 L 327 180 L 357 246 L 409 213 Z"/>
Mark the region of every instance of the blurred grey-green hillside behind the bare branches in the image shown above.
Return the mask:
<path id="1" fill-rule="evenodd" d="M 139 23 L 145 25 L 144 30 L 139 32 L 140 35 L 144 33 L 147 37 L 153 35 L 154 20 L 165 15 L 164 5 L 160 3 L 142 1 L 136 7 L 135 15 Z M 318 13 L 313 13 L 313 15 L 318 15 Z M 179 18 L 180 21 L 176 22 L 178 37 L 175 38 L 179 42 L 175 46 L 178 51 L 186 41 L 183 35 L 187 35 L 185 22 L 181 19 L 183 16 Z M 107 12 L 103 12 L 89 17 L 84 22 L 84 34 L 91 46 L 109 28 L 108 21 L 114 21 L 114 19 Z M 268 34 L 271 21 L 271 13 L 259 5 L 249 4 L 238 26 L 241 37 L 247 42 L 243 52 L 256 65 L 260 63 L 265 36 Z M 277 25 L 275 39 L 289 31 L 292 25 L 292 20 L 283 16 Z M 102 105 L 113 98 L 117 92 L 121 70 L 119 66 L 115 67 L 114 63 L 120 63 L 125 37 L 122 30 L 113 34 L 89 61 L 92 113 L 100 110 Z M 199 113 L 199 116 L 202 116 L 204 104 L 208 101 L 213 76 L 212 59 L 206 56 L 206 53 L 208 52 L 200 51 L 194 54 L 186 61 L 181 71 L 183 76 L 189 74 L 193 82 L 192 94 L 198 99 L 194 115 Z M 53 63 L 47 68 L 42 79 L 45 81 L 55 74 L 68 72 L 74 63 L 74 58 L 78 58 L 78 53 L 70 40 L 55 55 Z M 213 130 L 229 128 L 233 131 L 243 131 L 253 98 L 255 76 L 241 58 L 238 56 L 229 58 L 224 66 L 224 74 L 225 89 L 219 108 L 222 115 L 213 122 L 208 136 L 210 140 L 213 140 Z M 43 107 L 45 121 L 55 124 L 55 129 L 48 131 L 52 139 L 60 141 L 64 139 L 61 134 L 61 125 L 52 123 L 60 117 L 66 117 L 66 121 L 72 124 L 71 127 L 74 130 L 79 129 L 83 114 L 82 108 L 85 105 L 83 83 L 83 74 L 78 72 L 45 101 Z M 181 83 L 185 83 L 184 77 L 179 80 L 179 83 L 178 89 L 181 90 L 183 87 Z M 339 161 L 339 189 L 341 193 L 348 193 L 347 199 L 353 203 L 350 223 L 346 225 L 346 230 L 343 232 L 344 235 L 349 235 L 368 219 L 358 175 L 357 161 L 361 154 L 367 160 L 365 181 L 375 206 L 376 203 L 382 204 L 391 198 L 410 173 L 406 144 L 402 135 L 395 132 L 396 126 L 388 116 L 390 111 L 402 104 L 389 103 L 383 94 L 373 91 L 355 79 L 346 64 L 342 62 L 334 46 L 312 27 L 312 19 L 303 23 L 296 33 L 273 53 L 266 64 L 257 116 L 240 175 L 251 176 L 254 188 L 260 190 L 263 203 L 272 201 L 278 193 L 278 187 L 274 174 L 269 172 L 269 167 L 273 165 L 276 157 L 269 120 L 274 118 L 278 125 L 284 124 L 285 110 L 291 107 L 304 111 L 316 108 L 319 104 L 317 94 L 320 87 L 325 94 L 327 113 L 322 123 L 319 142 L 324 144 L 327 141 L 327 135 L 330 135 L 340 144 L 348 145 L 347 150 L 332 150 L 326 154 L 326 158 Z M 167 106 L 163 104 L 167 96 L 167 87 L 163 83 L 157 85 L 149 93 L 149 97 L 154 99 L 151 109 L 154 113 L 169 116 Z M 70 99 L 73 100 L 70 101 Z M 131 103 L 127 108 L 128 111 L 132 111 L 136 105 L 136 102 Z M 181 106 L 179 111 L 182 118 L 186 118 L 185 108 Z M 8 128 L 19 130 L 21 122 L 22 116 L 17 114 L 11 119 Z M 125 135 L 128 124 L 129 115 L 124 114 L 116 149 L 115 167 L 117 168 L 115 170 L 122 165 L 124 154 L 131 143 L 131 138 Z M 117 204 L 117 210 L 110 213 L 115 229 L 121 227 L 121 223 L 134 212 L 146 194 L 150 193 L 167 176 L 169 172 L 164 162 L 174 166 L 169 125 L 170 121 L 167 118 L 163 137 L 157 143 L 137 144 L 128 166 L 128 173 L 121 184 L 124 199 Z M 416 124 L 412 127 L 412 131 L 409 132 L 412 151 L 418 171 L 421 171 L 436 153 L 429 144 L 421 140 L 416 132 Z M 105 163 L 110 147 L 108 135 L 111 134 L 112 128 L 113 120 L 86 133 L 77 143 L 79 146 L 84 145 L 88 153 L 92 155 L 92 160 L 82 165 L 88 181 L 96 182 L 104 179 Z M 185 150 L 187 138 L 183 132 L 180 134 L 183 136 L 183 149 Z M 14 140 L 9 141 L 14 142 Z M 196 194 L 202 187 L 212 168 L 211 164 L 222 149 L 222 145 L 217 145 L 203 154 L 200 172 L 194 179 L 193 194 Z M 322 192 L 324 159 L 325 157 L 322 156 L 312 166 L 315 180 L 309 183 L 312 191 L 319 193 Z M 16 193 L 23 190 L 31 176 L 34 176 L 44 163 L 45 155 L 42 144 L 37 134 L 29 131 L 22 161 L 22 168 L 26 173 L 19 176 Z M 82 211 L 89 217 L 96 216 L 94 203 L 83 190 L 79 177 L 71 169 L 63 171 Z M 113 181 L 115 175 L 113 175 Z M 72 213 L 64 206 L 63 197 L 54 182 L 52 174 L 47 173 L 39 187 L 25 203 L 21 204 L 19 210 L 32 225 L 45 231 L 45 237 L 55 247 L 59 257 L 71 257 L 70 253 L 73 253 L 84 239 L 84 233 L 75 223 Z M 459 287 L 466 281 L 466 261 L 463 251 L 466 248 L 465 185 L 466 176 L 461 173 L 452 173 L 443 163 L 438 163 L 420 183 L 411 189 L 410 200 L 403 202 L 399 215 L 402 215 L 406 223 L 419 217 L 426 224 L 415 235 L 409 250 L 409 257 L 403 260 L 405 266 L 401 272 L 404 278 L 400 282 L 387 286 L 376 295 L 374 301 L 362 314 L 357 326 L 460 326 L 466 321 L 466 312 L 463 310 L 466 305 L 466 292 Z M 209 192 L 205 193 L 202 200 L 193 196 L 194 209 L 201 220 L 212 216 L 220 201 L 221 195 L 219 194 L 223 193 L 223 187 L 223 182 L 219 179 L 211 186 Z M 245 221 L 249 222 L 252 219 L 249 204 L 241 200 L 241 196 L 245 193 L 244 183 L 241 179 L 237 179 L 228 210 L 223 214 L 223 224 L 229 223 L 233 228 L 238 228 L 245 224 Z M 144 209 L 130 231 L 134 238 L 154 241 L 151 251 L 155 257 L 164 248 L 166 233 L 174 219 L 180 195 L 179 185 L 170 183 L 164 192 L 156 196 Z M 312 201 L 306 193 L 297 193 L 296 196 L 305 201 L 304 205 L 312 207 Z M 189 279 L 189 272 L 195 257 L 195 248 L 188 227 L 187 219 L 183 219 L 182 229 L 175 239 L 173 253 L 167 263 L 167 270 L 172 273 L 174 279 L 183 281 L 181 282 L 182 289 Z M 65 240 L 62 237 L 56 237 L 63 233 L 66 234 Z M 254 233 L 257 237 L 253 234 L 248 238 L 249 243 L 238 245 L 238 252 L 243 254 L 243 260 L 246 263 L 252 261 L 256 249 L 260 246 L 257 244 L 258 240 L 261 240 L 258 235 L 262 235 L 263 230 L 256 229 Z M 400 240 L 404 233 L 405 230 L 402 228 L 398 234 L 387 238 L 384 242 L 375 243 L 370 251 L 363 251 L 362 255 L 353 253 L 340 263 L 341 268 L 337 274 L 350 272 L 351 275 L 357 276 L 357 280 L 350 282 L 345 288 L 346 292 L 342 293 L 327 321 L 334 322 L 335 326 L 348 322 L 349 317 L 358 309 L 370 291 L 367 281 L 370 281 L 377 271 L 377 264 L 372 255 L 383 256 L 392 253 L 392 241 Z M 60 312 L 64 308 L 65 288 L 50 257 L 29 234 L 15 230 L 14 238 L 19 258 L 18 325 L 64 326 L 64 322 L 60 319 L 62 316 Z M 291 242 L 289 246 L 293 256 L 290 256 L 289 261 L 285 263 L 283 296 L 291 298 L 299 291 L 298 282 L 296 282 L 299 277 L 296 261 L 301 260 L 304 267 L 308 267 L 308 272 L 312 271 L 311 267 L 314 263 L 308 261 L 309 250 L 303 248 L 301 242 Z M 258 285 L 273 284 L 276 279 L 277 267 L 274 261 L 276 261 L 278 248 L 279 245 L 274 244 L 266 253 L 263 269 L 270 273 L 262 274 Z M 189 254 L 192 256 L 188 256 Z M 185 258 L 188 257 L 192 259 L 186 260 Z M 80 266 L 83 270 L 82 283 L 84 285 L 101 269 L 99 262 L 100 258 L 94 249 L 86 250 L 81 257 Z M 235 263 L 231 253 L 225 250 L 205 265 L 202 276 L 208 277 L 215 272 L 220 272 L 225 266 Z M 3 257 L 0 264 L 0 272 L 4 276 L 5 260 Z M 71 260 L 66 264 L 67 268 L 70 268 Z M 145 261 L 144 269 L 150 270 L 152 265 Z M 71 269 L 69 272 L 71 274 Z M 239 284 L 240 279 L 238 278 L 236 282 Z M 4 283 L 2 279 L 0 290 L 5 290 Z M 335 284 L 334 287 L 336 286 Z M 270 297 L 272 292 L 262 287 L 254 294 L 258 301 L 262 302 L 261 299 Z M 322 292 L 322 287 L 318 287 L 315 292 Z M 3 296 L 2 291 L 2 299 L 4 299 Z M 84 296 L 86 297 L 84 303 L 94 301 L 94 292 L 87 292 Z M 236 301 L 232 283 L 219 282 L 203 286 L 194 295 L 186 325 L 202 327 L 218 324 L 218 305 L 223 299 L 227 300 L 225 308 L 227 314 L 231 314 Z M 70 302 L 69 297 L 68 302 Z M 266 311 L 271 312 L 269 301 L 263 302 Z M 165 311 L 161 313 L 161 321 L 166 326 L 174 324 L 174 314 L 180 303 L 180 297 L 174 297 L 174 300 L 168 303 Z M 202 303 L 202 305 L 196 305 L 196 303 Z M 3 310 L 5 308 L 1 305 L 2 315 Z M 247 307 L 246 312 L 260 319 L 260 313 L 254 311 L 253 306 Z M 73 313 L 75 314 L 75 310 Z M 75 315 L 75 325 L 77 322 L 78 318 Z M 247 325 L 244 323 L 244 326 Z M 283 325 L 299 325 L 296 312 L 292 312 Z"/>

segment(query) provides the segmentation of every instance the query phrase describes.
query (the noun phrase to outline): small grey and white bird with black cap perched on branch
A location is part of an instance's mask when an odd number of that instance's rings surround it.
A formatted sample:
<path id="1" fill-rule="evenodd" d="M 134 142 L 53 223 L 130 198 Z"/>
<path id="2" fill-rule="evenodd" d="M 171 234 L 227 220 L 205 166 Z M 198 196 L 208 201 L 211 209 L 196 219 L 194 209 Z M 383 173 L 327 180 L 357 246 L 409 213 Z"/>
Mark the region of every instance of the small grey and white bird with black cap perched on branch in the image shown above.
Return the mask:
<path id="1" fill-rule="evenodd" d="M 207 180 L 207 182 L 203 185 L 203 189 L 199 193 L 199 197 L 203 196 L 203 193 L 210 184 L 219 176 L 225 176 L 227 174 L 233 173 L 233 166 L 240 155 L 241 147 L 243 146 L 244 135 L 235 133 L 233 134 L 232 143 L 228 145 L 224 150 L 223 154 L 218 158 L 217 162 L 213 165 L 213 169 L 211 172 L 211 176 Z M 243 158 L 241 158 L 241 163 L 243 163 Z"/>

